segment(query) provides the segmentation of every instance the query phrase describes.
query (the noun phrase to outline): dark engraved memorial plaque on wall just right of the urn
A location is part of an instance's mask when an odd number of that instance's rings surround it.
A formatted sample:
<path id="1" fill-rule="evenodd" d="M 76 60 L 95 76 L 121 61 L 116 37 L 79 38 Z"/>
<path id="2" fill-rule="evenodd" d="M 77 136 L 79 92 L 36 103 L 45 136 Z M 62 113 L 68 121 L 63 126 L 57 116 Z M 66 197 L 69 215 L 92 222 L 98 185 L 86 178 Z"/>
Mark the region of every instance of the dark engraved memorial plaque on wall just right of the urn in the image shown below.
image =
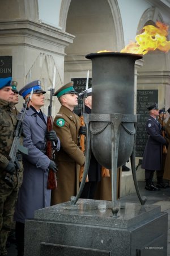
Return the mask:
<path id="1" fill-rule="evenodd" d="M 147 107 L 158 103 L 158 90 L 137 90 L 137 114 L 140 120 L 137 128 L 136 156 L 142 157 L 147 142 L 146 122 L 148 119 Z"/>

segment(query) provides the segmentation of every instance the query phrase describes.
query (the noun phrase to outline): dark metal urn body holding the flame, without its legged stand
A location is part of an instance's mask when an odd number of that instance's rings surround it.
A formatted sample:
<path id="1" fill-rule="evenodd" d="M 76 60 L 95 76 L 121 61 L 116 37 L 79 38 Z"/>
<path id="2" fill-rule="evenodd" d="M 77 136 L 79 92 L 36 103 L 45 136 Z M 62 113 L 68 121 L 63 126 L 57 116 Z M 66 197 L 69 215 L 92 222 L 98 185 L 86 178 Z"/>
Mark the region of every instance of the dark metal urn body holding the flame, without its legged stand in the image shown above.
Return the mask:
<path id="1" fill-rule="evenodd" d="M 129 53 L 92 53 L 86 56 L 92 60 L 92 113 L 134 114 L 134 63 L 141 55 Z M 107 126 L 107 127 L 105 127 Z M 103 130 L 102 133 L 95 131 Z M 112 123 L 91 125 L 92 151 L 97 161 L 106 168 L 112 168 L 111 133 Z M 117 167 L 130 158 L 134 146 L 134 122 L 122 122 L 118 147 Z"/>

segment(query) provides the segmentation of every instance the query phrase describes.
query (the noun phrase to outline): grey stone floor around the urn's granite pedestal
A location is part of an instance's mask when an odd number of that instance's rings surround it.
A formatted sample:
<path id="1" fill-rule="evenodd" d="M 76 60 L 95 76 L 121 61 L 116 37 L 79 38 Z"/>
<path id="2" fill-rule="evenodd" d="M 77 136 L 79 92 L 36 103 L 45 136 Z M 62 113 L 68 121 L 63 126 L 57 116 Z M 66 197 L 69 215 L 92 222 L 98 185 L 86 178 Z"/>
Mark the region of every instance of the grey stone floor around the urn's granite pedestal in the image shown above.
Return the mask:
<path id="1" fill-rule="evenodd" d="M 162 212 L 168 213 L 168 253 L 167 255 L 170 256 L 170 188 L 161 189 L 161 191 L 151 192 L 145 190 L 145 183 L 139 182 L 139 189 L 142 196 L 147 197 L 146 204 L 156 204 L 160 205 Z M 122 203 L 139 203 L 138 196 L 136 193 L 133 193 L 128 196 L 124 196 L 120 200 Z M 16 248 L 15 244 L 11 244 L 8 248 L 8 256 L 16 256 Z M 68 255 L 69 256 L 69 255 Z"/>

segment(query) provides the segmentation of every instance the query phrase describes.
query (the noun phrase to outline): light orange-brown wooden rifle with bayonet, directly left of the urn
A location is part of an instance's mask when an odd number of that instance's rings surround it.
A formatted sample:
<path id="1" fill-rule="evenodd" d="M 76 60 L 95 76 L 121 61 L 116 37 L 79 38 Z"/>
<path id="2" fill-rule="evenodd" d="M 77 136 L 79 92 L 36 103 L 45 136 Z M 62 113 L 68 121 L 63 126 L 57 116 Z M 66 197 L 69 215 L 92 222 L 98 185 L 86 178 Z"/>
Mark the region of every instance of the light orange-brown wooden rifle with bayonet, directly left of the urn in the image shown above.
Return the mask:
<path id="1" fill-rule="evenodd" d="M 88 89 L 88 78 L 89 78 L 89 71 L 87 71 L 86 92 L 87 92 L 87 89 Z M 83 95 L 82 112 L 81 112 L 81 116 L 80 116 L 80 126 L 85 126 L 83 114 L 84 114 L 84 109 L 85 109 L 84 98 L 87 97 L 86 92 L 84 92 L 84 95 Z M 85 142 L 85 135 L 80 134 L 80 149 L 83 151 L 83 153 L 85 155 L 85 144 L 84 144 L 84 142 Z M 81 166 L 80 167 L 80 174 L 79 174 L 79 182 L 82 182 L 83 172 L 84 172 L 84 166 Z M 86 177 L 86 182 L 88 182 L 88 175 Z"/>

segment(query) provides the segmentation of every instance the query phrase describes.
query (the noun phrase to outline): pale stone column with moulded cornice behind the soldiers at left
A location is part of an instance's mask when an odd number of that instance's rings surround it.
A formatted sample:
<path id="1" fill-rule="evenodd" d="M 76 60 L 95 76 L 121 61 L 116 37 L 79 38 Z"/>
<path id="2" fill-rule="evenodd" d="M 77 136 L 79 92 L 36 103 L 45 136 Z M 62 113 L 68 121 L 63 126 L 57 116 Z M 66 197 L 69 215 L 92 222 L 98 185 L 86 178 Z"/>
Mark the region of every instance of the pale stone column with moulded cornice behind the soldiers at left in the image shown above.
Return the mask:
<path id="1" fill-rule="evenodd" d="M 13 3 L 13 2 L 12 2 Z M 42 24 L 38 17 L 37 1 L 17 3 L 6 1 L 1 6 L 0 56 L 12 56 L 12 78 L 18 81 L 18 89 L 29 81 L 41 80 L 46 91 L 52 86 L 56 65 L 56 90 L 63 85 L 65 48 L 73 43 L 74 36 L 59 28 Z M 8 8 L 10 6 L 10 9 Z M 1 74 L 0 74 L 1 76 Z M 46 93 L 46 99 L 49 93 Z M 57 99 L 53 115 L 58 112 Z M 20 98 L 18 109 L 22 108 Z M 45 114 L 49 101 L 44 106 Z"/>

